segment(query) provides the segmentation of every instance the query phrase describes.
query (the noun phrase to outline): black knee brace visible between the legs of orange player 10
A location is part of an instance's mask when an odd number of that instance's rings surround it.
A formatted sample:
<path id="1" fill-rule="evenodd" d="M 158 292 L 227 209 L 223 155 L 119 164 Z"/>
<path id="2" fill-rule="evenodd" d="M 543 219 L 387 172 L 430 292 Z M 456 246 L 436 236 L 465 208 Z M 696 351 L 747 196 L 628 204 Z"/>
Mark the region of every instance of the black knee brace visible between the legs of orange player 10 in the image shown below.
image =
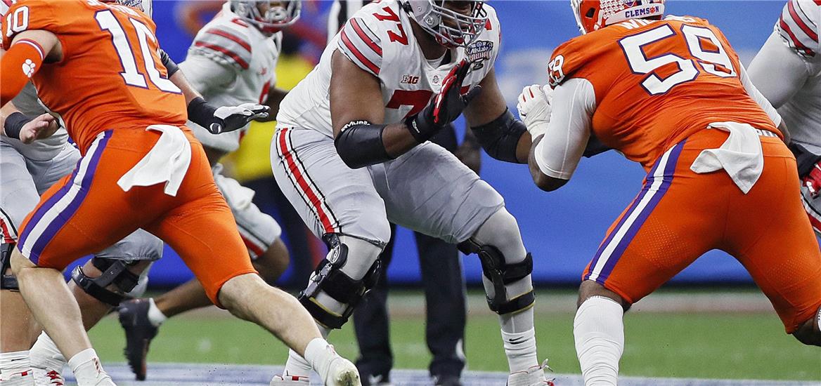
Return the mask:
<path id="1" fill-rule="evenodd" d="M 128 266 L 131 264 L 126 263 L 126 261 L 106 257 L 92 257 L 91 264 L 94 265 L 94 268 L 102 271 L 103 274 L 92 278 L 85 275 L 82 266 L 77 266 L 71 272 L 71 279 L 85 293 L 112 307 L 119 306 L 120 302 L 126 299 L 124 294 L 131 292 L 140 281 L 140 275 L 128 270 Z M 108 289 L 111 284 L 114 284 L 119 292 Z"/>

